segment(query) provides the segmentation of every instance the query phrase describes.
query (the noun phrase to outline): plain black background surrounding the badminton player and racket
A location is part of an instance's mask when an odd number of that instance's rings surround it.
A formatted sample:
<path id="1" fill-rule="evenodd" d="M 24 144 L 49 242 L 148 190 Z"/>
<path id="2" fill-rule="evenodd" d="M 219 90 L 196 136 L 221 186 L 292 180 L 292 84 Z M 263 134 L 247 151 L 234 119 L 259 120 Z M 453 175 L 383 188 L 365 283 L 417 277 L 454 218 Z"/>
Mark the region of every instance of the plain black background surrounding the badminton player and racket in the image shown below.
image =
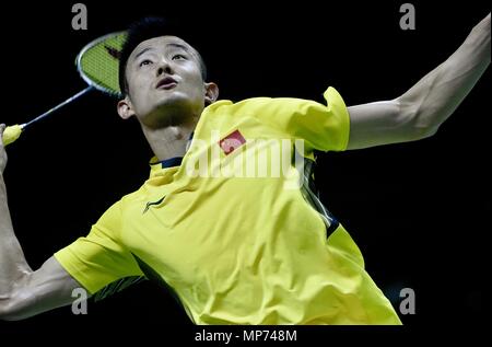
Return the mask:
<path id="1" fill-rule="evenodd" d="M 71 27 L 74 2 L 11 3 L 2 11 L 0 122 L 24 123 L 85 88 L 74 67 L 92 39 L 148 14 L 179 16 L 206 43 L 221 99 L 293 96 L 324 102 L 328 85 L 348 105 L 393 99 L 444 61 L 490 11 L 484 1 L 413 1 L 417 30 L 399 27 L 405 1 L 89 2 L 87 31 Z M 319 157 L 317 185 L 361 247 L 367 271 L 398 308 L 415 291 L 408 326 L 477 325 L 491 216 L 490 70 L 432 138 Z M 149 173 L 151 152 L 116 100 L 92 92 L 8 147 L 5 183 L 15 233 L 33 268 L 87 233 Z M 62 308 L 0 331 L 68 324 L 189 325 L 151 284 L 127 289 L 89 314 Z"/>

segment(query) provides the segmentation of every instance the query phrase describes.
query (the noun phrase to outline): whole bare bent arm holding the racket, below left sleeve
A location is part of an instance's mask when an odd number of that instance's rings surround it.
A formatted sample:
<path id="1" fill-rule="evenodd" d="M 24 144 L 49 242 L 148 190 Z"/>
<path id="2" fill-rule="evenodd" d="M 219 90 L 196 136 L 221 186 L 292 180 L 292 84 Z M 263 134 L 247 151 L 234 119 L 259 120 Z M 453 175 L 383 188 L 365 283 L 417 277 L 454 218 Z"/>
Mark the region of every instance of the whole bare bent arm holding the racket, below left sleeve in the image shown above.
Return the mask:
<path id="1" fill-rule="evenodd" d="M 0 320 L 20 320 L 69 304 L 73 301 L 72 290 L 81 286 L 55 257 L 35 271 L 24 257 L 7 204 L 3 129 L 4 125 L 0 125 Z"/>

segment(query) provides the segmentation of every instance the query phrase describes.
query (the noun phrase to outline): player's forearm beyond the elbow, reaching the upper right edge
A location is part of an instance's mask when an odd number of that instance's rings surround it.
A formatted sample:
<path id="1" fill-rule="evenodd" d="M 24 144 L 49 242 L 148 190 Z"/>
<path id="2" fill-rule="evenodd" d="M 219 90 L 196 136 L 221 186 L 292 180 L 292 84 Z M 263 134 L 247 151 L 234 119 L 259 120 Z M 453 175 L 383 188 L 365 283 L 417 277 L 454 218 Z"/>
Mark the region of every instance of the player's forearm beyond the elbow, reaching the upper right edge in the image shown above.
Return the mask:
<path id="1" fill-rule="evenodd" d="M 442 65 L 399 97 L 403 114 L 420 129 L 437 130 L 490 65 L 490 14 Z"/>

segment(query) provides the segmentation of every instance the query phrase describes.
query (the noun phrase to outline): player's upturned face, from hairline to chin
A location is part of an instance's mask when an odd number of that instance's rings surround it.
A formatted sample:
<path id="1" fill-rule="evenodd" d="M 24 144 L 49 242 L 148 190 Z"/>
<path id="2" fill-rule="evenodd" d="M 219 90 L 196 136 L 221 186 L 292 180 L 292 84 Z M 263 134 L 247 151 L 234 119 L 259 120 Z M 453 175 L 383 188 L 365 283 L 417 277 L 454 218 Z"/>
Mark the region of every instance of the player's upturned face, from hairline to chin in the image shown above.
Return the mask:
<path id="1" fill-rule="evenodd" d="M 129 105 L 148 127 L 178 125 L 199 116 L 207 84 L 195 49 L 176 36 L 138 45 L 126 67 Z"/>

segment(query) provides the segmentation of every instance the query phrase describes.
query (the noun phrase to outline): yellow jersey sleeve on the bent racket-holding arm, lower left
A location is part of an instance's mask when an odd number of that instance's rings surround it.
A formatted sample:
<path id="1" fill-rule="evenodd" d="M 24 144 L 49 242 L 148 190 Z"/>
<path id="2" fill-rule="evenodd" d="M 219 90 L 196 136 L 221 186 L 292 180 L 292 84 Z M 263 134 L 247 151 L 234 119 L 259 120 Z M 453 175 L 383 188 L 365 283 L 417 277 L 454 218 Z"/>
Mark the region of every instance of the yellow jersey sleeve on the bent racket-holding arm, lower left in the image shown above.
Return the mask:
<path id="1" fill-rule="evenodd" d="M 136 259 L 119 240 L 120 228 L 118 201 L 92 225 L 89 235 L 55 253 L 61 266 L 91 294 L 118 279 L 143 276 Z"/>

